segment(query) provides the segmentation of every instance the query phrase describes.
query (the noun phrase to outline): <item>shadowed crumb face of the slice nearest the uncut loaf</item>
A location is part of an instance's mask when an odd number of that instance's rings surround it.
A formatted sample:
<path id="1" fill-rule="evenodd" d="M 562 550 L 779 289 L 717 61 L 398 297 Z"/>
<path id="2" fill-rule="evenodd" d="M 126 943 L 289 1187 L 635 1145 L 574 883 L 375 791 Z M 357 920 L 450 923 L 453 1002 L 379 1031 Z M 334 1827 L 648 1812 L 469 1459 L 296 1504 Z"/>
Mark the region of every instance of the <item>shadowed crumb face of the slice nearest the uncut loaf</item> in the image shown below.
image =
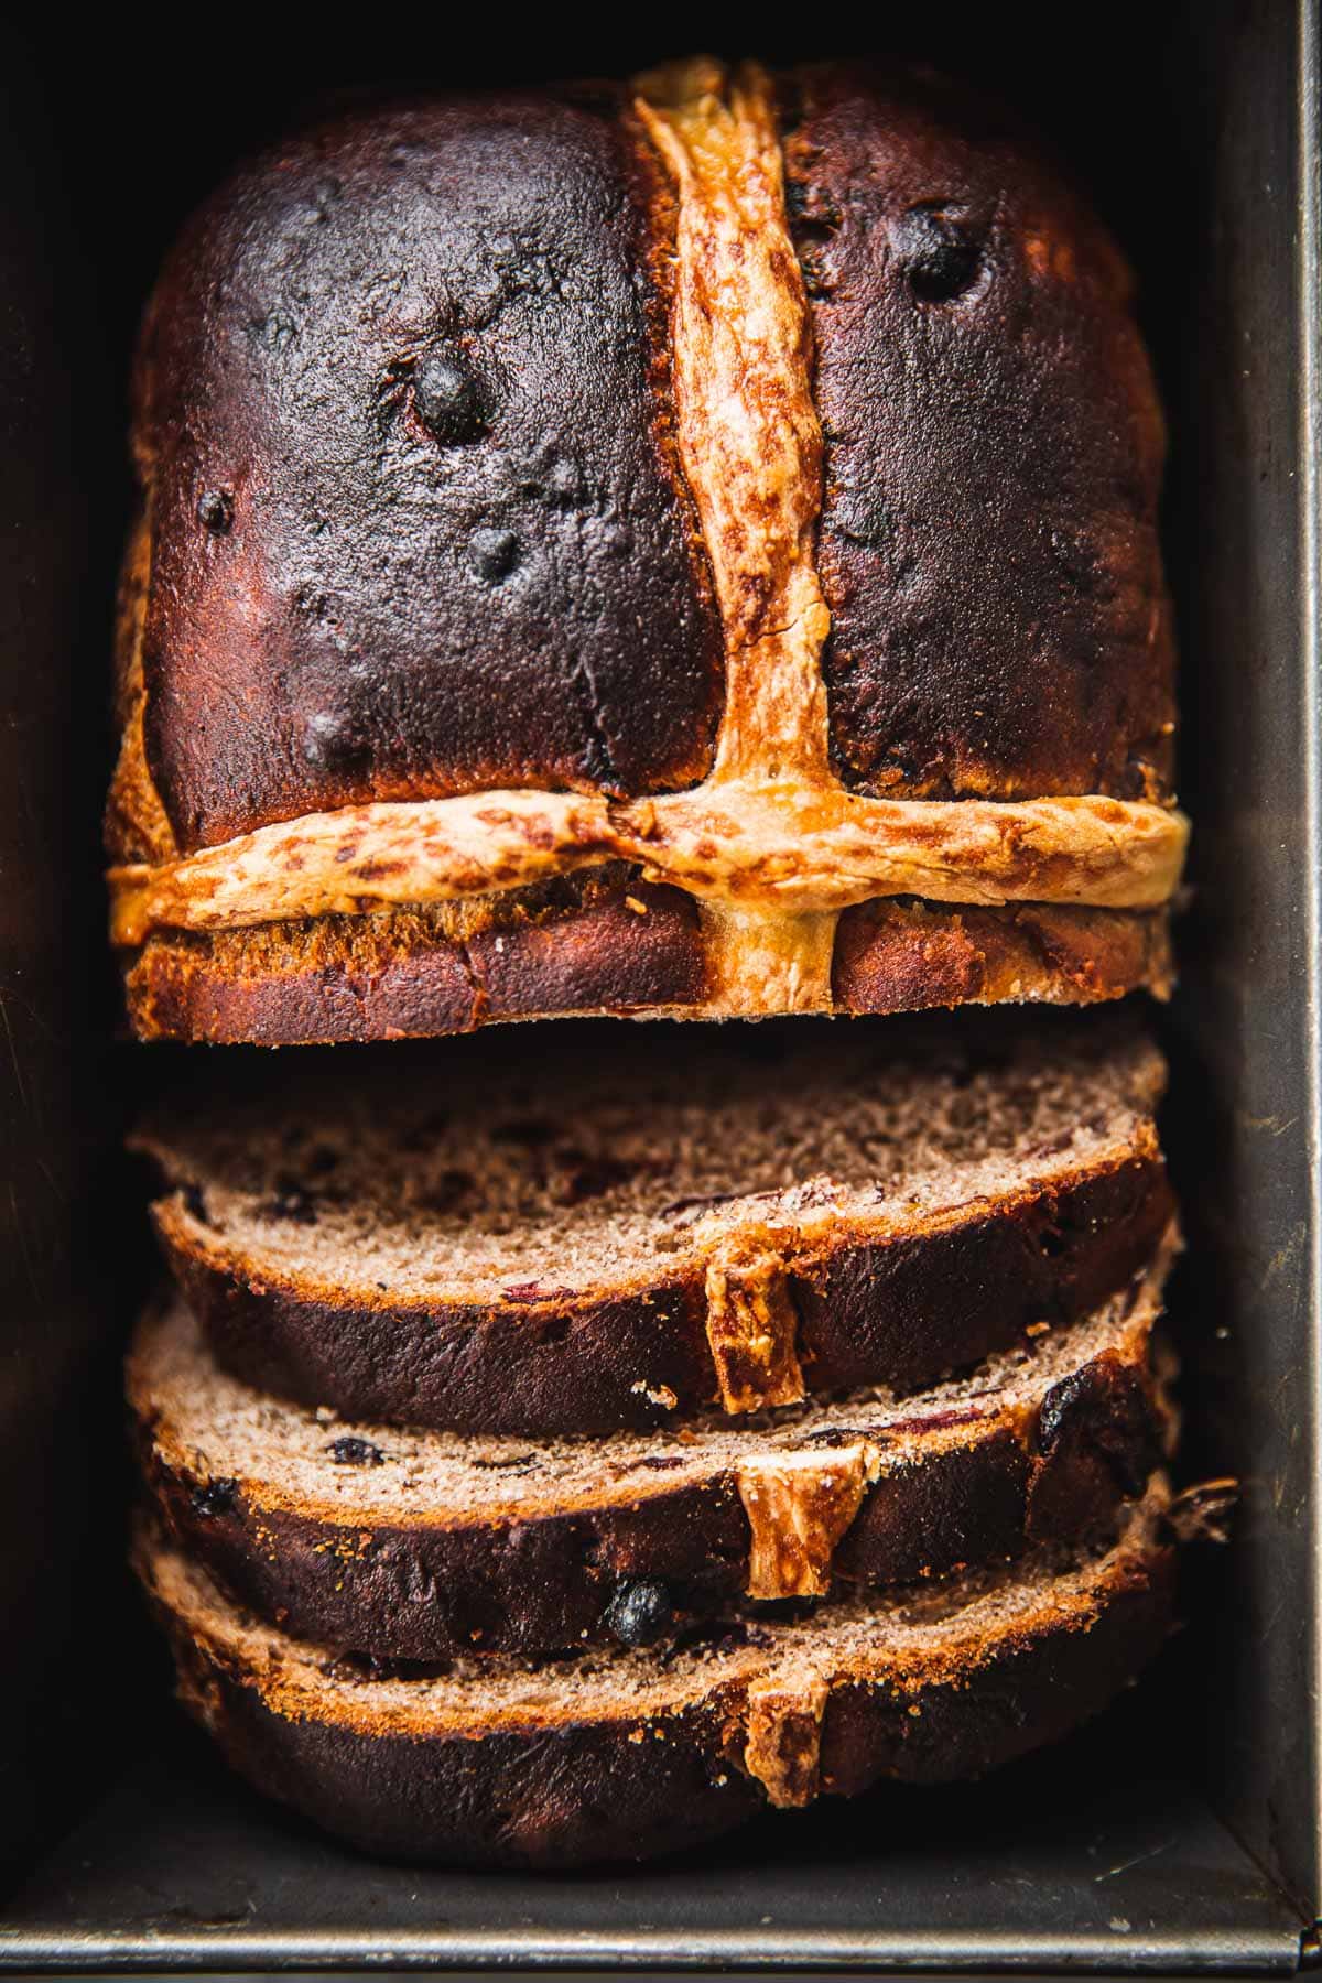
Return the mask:
<path id="1" fill-rule="evenodd" d="M 912 1055 L 868 1027 L 767 1053 L 686 1039 L 682 1071 L 597 1035 L 551 1065 L 519 1041 L 406 1087 L 337 1073 L 329 1093 L 226 1095 L 137 1146 L 186 1251 L 307 1297 L 513 1307 L 664 1289 L 739 1235 L 811 1255 L 957 1224 L 1154 1156 L 1161 1087 L 1157 1051 L 1110 1027 L 989 1065 L 945 1033 Z"/>

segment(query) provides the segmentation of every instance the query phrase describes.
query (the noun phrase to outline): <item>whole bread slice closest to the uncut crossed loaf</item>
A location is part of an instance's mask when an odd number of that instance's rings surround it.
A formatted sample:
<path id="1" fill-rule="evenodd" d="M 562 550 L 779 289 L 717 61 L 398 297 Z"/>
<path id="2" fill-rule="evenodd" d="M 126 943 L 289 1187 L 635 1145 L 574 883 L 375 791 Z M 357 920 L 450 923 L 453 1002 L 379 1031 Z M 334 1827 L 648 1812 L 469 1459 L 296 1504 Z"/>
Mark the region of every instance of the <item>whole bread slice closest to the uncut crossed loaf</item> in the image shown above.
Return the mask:
<path id="1" fill-rule="evenodd" d="M 226 1069 L 145 1128 L 220 1364 L 527 1438 L 914 1388 L 1098 1307 L 1171 1218 L 1124 1025 L 565 1031 L 268 1063 L 252 1107 Z"/>

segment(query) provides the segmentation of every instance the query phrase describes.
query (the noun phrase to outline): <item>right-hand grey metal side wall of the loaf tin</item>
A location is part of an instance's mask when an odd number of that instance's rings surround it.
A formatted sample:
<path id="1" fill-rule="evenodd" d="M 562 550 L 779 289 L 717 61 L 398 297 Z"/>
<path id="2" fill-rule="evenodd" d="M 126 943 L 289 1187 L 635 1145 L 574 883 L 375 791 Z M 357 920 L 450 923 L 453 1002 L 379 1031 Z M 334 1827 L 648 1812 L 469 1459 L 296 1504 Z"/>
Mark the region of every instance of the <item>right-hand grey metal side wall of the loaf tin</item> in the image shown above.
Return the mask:
<path id="1" fill-rule="evenodd" d="M 1167 1128 L 1189 1227 L 1191 1459 L 1243 1479 L 1233 1545 L 1205 1592 L 1195 1682 L 1205 1779 L 1316 1914 L 1318 46 L 1310 4 L 1217 12 L 1225 34 L 1195 38 L 1183 105 L 1205 159 L 1205 248 L 1167 325 L 1185 353 L 1169 367 L 1169 543 L 1185 650 L 1181 795 L 1197 821 Z"/>

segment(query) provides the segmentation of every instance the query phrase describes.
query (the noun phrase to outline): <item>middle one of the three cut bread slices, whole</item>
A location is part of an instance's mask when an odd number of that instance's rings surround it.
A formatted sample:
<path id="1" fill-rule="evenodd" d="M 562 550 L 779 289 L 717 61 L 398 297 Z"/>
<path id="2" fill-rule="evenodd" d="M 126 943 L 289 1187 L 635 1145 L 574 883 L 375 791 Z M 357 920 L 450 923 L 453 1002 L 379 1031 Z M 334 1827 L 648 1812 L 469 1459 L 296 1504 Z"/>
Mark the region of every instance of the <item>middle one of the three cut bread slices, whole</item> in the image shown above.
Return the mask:
<path id="1" fill-rule="evenodd" d="M 747 1600 L 941 1576 L 1114 1531 L 1169 1424 L 1161 1267 L 1068 1331 L 916 1398 L 531 1446 L 283 1406 L 186 1309 L 129 1358 L 145 1477 L 258 1614 L 371 1658 L 672 1640 Z"/>

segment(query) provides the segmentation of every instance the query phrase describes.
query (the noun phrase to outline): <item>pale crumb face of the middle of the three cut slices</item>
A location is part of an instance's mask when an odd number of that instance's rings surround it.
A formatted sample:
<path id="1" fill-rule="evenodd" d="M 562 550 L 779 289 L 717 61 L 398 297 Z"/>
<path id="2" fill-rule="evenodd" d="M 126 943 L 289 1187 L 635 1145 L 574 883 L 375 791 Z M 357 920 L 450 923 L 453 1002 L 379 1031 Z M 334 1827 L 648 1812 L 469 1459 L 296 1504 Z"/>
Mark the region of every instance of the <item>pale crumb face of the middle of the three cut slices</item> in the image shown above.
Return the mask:
<path id="1" fill-rule="evenodd" d="M 862 1454 L 868 1477 L 920 1465 L 1037 1424 L 1048 1390 L 1098 1356 L 1140 1376 L 1161 1309 L 1169 1249 L 1126 1293 L 1072 1329 L 1045 1331 L 957 1382 L 896 1398 L 872 1388 L 731 1422 L 599 1440 L 466 1438 L 347 1424 L 327 1410 L 283 1404 L 216 1368 L 180 1305 L 139 1329 L 129 1402 L 170 1471 L 198 1483 L 238 1483 L 256 1509 L 283 1509 L 343 1527 L 466 1527 L 575 1509 L 638 1505 L 650 1495 L 785 1459 L 823 1465 Z M 369 1463 L 343 1463 L 351 1452 Z"/>

